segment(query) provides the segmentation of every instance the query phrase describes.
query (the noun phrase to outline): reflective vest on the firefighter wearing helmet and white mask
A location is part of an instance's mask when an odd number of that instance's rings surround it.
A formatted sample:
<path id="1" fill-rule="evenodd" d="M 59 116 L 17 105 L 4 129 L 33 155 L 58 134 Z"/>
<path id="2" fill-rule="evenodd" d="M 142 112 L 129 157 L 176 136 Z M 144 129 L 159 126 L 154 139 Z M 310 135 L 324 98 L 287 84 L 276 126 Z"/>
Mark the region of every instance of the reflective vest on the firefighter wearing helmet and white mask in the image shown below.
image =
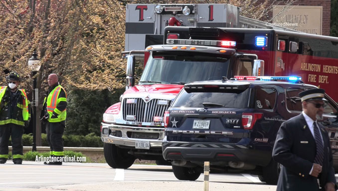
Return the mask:
<path id="1" fill-rule="evenodd" d="M 0 105 L 1 105 L 2 98 L 3 98 L 3 96 L 6 92 L 6 89 L 7 89 L 7 86 L 1 86 L 0 87 Z M 22 109 L 22 119 L 23 119 L 23 121 L 27 121 L 28 117 L 29 117 L 27 95 L 26 95 L 26 92 L 23 89 L 18 89 L 18 91 L 20 91 L 20 93 L 21 93 L 22 102 L 18 102 L 16 104 L 16 107 Z M 0 108 L 0 110 L 1 110 L 1 108 Z M 16 124 L 16 125 L 24 126 L 23 121 L 20 121 L 20 120 L 17 120 L 17 119 L 4 119 L 4 120 L 0 120 L 0 125 L 13 123 L 13 124 Z"/>

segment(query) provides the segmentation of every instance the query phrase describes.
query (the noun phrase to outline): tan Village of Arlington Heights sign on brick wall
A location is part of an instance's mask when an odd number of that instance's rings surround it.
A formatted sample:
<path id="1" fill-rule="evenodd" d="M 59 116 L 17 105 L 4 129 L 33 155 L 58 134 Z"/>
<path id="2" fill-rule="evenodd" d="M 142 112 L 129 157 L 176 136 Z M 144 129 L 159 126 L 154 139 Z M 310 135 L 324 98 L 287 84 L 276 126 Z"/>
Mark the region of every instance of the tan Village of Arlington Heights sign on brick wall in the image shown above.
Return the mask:
<path id="1" fill-rule="evenodd" d="M 323 6 L 274 5 L 272 14 L 272 25 L 322 34 Z"/>

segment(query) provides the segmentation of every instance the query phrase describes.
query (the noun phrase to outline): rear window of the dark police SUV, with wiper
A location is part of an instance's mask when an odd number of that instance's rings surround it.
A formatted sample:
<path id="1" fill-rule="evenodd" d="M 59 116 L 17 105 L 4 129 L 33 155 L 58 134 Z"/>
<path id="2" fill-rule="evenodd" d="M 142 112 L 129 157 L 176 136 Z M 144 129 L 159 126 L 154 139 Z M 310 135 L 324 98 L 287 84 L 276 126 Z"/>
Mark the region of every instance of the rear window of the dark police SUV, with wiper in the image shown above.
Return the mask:
<path id="1" fill-rule="evenodd" d="M 225 107 L 248 108 L 250 88 L 242 91 L 190 92 L 184 89 L 178 94 L 172 107 Z"/>

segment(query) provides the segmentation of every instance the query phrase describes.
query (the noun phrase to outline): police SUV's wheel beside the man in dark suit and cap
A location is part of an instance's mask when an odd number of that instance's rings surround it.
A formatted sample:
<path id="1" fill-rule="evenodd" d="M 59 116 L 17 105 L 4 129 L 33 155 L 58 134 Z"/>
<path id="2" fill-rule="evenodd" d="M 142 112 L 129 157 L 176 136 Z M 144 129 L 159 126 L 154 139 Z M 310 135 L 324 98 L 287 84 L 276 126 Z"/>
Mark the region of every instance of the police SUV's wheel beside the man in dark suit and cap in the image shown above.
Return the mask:
<path id="1" fill-rule="evenodd" d="M 280 171 L 280 164 L 271 159 L 269 165 L 263 167 L 263 175 L 258 176 L 258 178 L 260 181 L 266 182 L 268 185 L 277 185 Z"/>

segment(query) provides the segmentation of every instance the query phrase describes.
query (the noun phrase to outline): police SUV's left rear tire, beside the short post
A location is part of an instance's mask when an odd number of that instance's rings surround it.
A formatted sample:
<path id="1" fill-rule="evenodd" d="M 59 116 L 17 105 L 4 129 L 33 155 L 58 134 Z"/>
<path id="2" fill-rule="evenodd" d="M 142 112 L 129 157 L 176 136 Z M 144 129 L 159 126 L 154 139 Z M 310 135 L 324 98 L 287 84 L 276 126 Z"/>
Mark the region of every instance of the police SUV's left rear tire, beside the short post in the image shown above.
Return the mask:
<path id="1" fill-rule="evenodd" d="M 181 181 L 195 181 L 201 174 L 197 168 L 178 167 L 172 165 L 175 177 Z"/>

